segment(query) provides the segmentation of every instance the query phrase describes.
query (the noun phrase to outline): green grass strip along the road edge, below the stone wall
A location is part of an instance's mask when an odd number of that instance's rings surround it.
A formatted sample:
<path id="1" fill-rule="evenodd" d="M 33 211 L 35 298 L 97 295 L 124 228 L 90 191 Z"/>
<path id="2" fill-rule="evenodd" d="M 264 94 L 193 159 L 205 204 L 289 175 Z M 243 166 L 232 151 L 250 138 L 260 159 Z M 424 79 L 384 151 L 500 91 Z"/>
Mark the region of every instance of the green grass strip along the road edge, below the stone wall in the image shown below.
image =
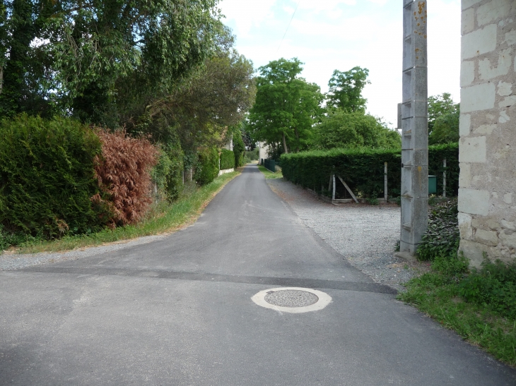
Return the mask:
<path id="1" fill-rule="evenodd" d="M 430 272 L 411 279 L 399 300 L 416 306 L 467 342 L 499 361 L 516 366 L 516 320 L 490 310 L 487 304 L 466 303 L 459 296 L 457 278 Z"/>

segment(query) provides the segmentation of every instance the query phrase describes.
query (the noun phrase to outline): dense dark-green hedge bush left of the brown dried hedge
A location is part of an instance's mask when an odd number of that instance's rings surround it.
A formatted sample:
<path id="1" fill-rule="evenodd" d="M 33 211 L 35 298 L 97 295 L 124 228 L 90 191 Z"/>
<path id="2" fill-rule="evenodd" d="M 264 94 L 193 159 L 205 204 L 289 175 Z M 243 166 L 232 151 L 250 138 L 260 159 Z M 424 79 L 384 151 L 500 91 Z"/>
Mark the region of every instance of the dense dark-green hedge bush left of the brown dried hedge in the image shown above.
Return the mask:
<path id="1" fill-rule="evenodd" d="M 100 151 L 97 135 L 72 119 L 2 119 L 0 223 L 46 239 L 100 229 L 107 218 L 90 200 Z"/>

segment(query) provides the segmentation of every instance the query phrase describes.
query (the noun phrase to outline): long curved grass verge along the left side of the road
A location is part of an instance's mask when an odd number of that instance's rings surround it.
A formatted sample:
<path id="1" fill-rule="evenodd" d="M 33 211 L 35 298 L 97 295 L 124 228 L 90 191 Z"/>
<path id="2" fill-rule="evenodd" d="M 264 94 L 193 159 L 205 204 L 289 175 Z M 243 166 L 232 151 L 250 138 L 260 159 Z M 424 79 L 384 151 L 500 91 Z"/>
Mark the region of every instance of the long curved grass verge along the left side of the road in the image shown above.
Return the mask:
<path id="1" fill-rule="evenodd" d="M 167 234 L 194 222 L 215 195 L 226 183 L 240 174 L 239 171 L 223 174 L 213 182 L 197 188 L 193 185 L 185 188 L 180 198 L 174 203 L 160 203 L 151 208 L 146 219 L 134 225 L 117 229 L 104 229 L 95 234 L 64 236 L 54 241 L 32 240 L 20 244 L 17 253 L 38 253 L 71 251 L 76 248 L 99 246 L 104 243 L 135 239 L 140 236 Z"/>

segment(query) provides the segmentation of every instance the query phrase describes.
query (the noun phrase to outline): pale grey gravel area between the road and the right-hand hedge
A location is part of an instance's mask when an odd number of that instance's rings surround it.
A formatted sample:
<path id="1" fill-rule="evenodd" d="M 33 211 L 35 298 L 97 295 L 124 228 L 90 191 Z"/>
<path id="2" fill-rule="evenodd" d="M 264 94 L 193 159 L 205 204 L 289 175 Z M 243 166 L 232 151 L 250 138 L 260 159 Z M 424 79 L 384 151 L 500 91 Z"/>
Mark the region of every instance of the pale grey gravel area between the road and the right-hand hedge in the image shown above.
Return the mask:
<path id="1" fill-rule="evenodd" d="M 407 262 L 394 256 L 399 240 L 399 206 L 336 206 L 284 179 L 270 179 L 267 183 L 307 227 L 375 282 L 402 291 L 402 283 L 428 271 L 428 263 Z"/>

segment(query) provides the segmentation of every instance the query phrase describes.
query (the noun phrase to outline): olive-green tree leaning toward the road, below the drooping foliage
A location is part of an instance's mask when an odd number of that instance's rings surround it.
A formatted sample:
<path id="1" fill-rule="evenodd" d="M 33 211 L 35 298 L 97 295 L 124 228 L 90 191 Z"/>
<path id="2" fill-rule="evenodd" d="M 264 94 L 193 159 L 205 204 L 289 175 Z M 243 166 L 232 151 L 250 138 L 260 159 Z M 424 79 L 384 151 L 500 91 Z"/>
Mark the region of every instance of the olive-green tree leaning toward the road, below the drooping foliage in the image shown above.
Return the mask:
<path id="1" fill-rule="evenodd" d="M 232 48 L 228 30 L 221 34 L 216 54 L 170 92 L 151 95 L 140 111 L 125 117 L 129 131 L 164 143 L 179 140 L 187 152 L 228 140 L 254 103 L 256 88 L 252 63 Z"/>

